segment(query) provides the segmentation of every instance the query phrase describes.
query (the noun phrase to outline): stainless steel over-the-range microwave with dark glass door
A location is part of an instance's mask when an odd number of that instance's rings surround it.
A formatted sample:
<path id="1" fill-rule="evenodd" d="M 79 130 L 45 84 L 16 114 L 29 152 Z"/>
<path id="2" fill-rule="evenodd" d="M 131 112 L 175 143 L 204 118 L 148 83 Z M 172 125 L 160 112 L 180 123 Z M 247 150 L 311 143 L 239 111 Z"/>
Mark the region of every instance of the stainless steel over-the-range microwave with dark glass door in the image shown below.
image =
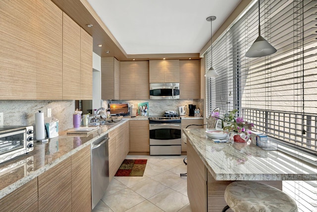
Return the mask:
<path id="1" fill-rule="evenodd" d="M 179 83 L 150 83 L 150 99 L 179 99 Z"/>

